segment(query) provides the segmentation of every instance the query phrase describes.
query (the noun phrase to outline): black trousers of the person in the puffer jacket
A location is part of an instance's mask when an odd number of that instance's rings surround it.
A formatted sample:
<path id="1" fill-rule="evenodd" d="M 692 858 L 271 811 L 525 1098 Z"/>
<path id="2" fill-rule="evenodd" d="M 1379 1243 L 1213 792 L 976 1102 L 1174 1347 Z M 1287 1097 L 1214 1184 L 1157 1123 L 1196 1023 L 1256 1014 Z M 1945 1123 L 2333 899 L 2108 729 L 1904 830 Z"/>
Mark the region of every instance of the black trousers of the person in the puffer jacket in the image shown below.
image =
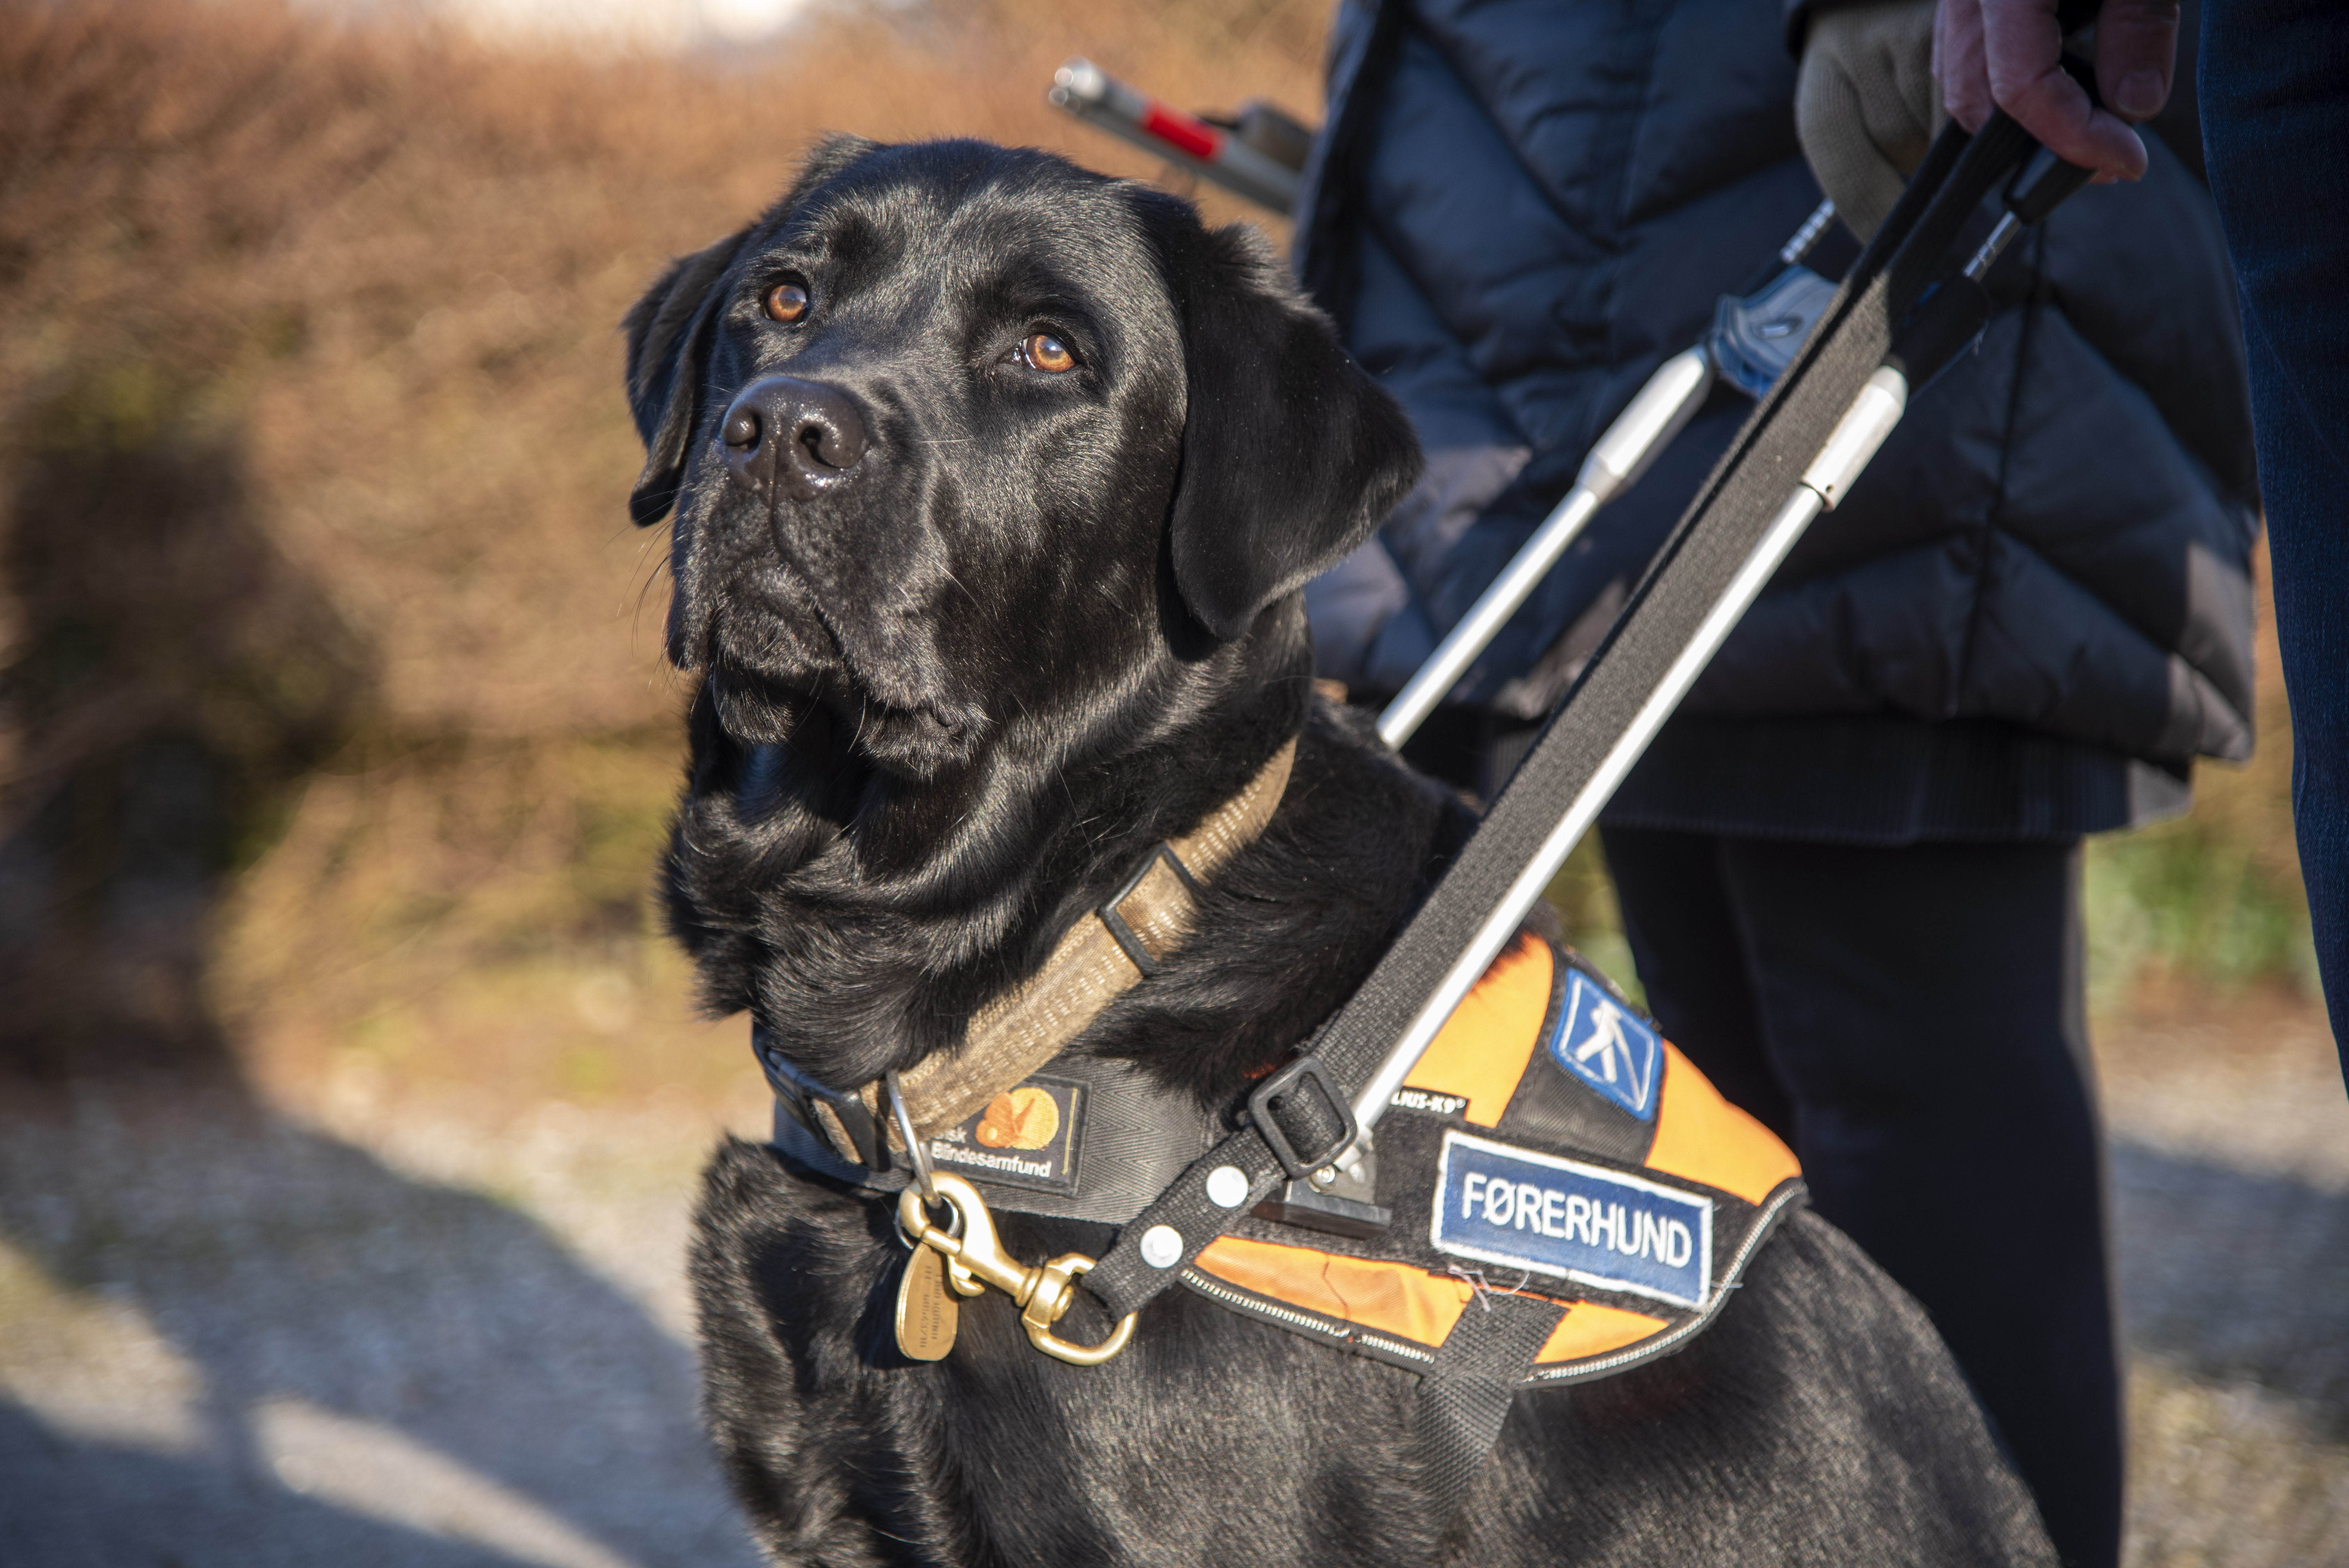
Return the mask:
<path id="1" fill-rule="evenodd" d="M 2079 845 L 1604 833 L 1649 1007 L 1931 1312 L 2067 1563 L 2121 1552 Z"/>

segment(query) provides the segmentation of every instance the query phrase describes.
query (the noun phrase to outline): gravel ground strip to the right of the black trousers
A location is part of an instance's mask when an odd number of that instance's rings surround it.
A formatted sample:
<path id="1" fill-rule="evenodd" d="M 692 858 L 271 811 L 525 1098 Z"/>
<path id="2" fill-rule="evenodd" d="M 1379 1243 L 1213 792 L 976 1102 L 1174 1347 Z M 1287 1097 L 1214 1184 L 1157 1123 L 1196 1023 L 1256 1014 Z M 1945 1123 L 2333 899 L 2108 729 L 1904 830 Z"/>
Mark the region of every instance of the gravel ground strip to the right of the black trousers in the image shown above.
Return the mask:
<path id="1" fill-rule="evenodd" d="M 2349 1099 L 2323 1019 L 2107 1030 L 2131 1552 L 2349 1563 Z"/>

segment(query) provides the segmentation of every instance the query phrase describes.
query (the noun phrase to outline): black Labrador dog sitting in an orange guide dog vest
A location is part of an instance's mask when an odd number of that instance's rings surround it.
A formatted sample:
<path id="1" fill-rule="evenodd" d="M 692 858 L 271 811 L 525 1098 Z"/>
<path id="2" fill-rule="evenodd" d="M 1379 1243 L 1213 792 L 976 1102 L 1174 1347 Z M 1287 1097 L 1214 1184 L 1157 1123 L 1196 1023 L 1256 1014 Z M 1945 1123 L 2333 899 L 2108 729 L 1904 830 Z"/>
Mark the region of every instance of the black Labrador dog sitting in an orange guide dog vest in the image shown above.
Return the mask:
<path id="1" fill-rule="evenodd" d="M 707 1007 L 815 1080 L 954 1052 L 1294 737 L 1191 944 L 1069 1047 L 1229 1106 L 1473 826 L 1313 695 L 1297 589 L 1419 455 L 1254 232 L 1034 150 L 839 138 L 660 277 L 627 357 L 700 674 L 669 918 Z M 1931 1326 L 1806 1214 L 1682 1354 L 1517 1397 L 1466 1500 L 1428 1495 L 1409 1373 L 1186 1291 L 1106 1366 L 996 1293 L 907 1361 L 888 1216 L 768 1145 L 707 1171 L 707 1415 L 780 1563 L 2051 1561 Z M 998 1223 L 1029 1261 L 1109 1244 Z"/>

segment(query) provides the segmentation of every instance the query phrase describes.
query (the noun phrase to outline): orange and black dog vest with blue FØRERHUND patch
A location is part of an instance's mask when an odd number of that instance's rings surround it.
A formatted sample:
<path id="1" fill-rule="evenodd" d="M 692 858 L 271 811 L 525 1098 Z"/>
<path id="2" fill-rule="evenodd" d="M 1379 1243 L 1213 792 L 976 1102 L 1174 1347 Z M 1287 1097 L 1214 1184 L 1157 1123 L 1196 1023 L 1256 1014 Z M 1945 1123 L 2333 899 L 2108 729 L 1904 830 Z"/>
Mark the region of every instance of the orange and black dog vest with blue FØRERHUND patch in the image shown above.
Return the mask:
<path id="1" fill-rule="evenodd" d="M 1367 1239 L 1245 1218 L 1193 1291 L 1426 1371 L 1496 1296 L 1564 1307 L 1517 1387 L 1600 1378 L 1698 1333 L 1804 1195 L 1795 1155 L 1571 951 L 1525 932 L 1379 1122 Z"/>

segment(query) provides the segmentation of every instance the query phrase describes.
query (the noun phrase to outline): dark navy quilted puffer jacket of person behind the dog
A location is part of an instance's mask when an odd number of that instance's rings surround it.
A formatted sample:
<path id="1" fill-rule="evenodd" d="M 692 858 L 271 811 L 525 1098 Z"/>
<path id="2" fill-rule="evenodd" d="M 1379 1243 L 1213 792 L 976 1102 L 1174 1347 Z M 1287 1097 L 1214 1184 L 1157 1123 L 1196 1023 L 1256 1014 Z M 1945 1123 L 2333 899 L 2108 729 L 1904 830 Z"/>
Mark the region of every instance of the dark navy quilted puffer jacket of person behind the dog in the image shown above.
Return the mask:
<path id="1" fill-rule="evenodd" d="M 1778 0 L 1341 9 L 1299 268 L 1428 477 L 1308 589 L 1322 674 L 1400 688 L 1649 371 L 1773 270 L 1818 202 L 1783 28 Z M 2192 164 L 2149 136 L 2142 183 L 2008 249 L 1980 350 L 1912 399 L 1609 822 L 2069 838 L 2250 753 L 2250 411 L 2192 103 L 2173 127 Z M 1456 699 L 1539 718 L 1748 413 L 1715 392 Z"/>

